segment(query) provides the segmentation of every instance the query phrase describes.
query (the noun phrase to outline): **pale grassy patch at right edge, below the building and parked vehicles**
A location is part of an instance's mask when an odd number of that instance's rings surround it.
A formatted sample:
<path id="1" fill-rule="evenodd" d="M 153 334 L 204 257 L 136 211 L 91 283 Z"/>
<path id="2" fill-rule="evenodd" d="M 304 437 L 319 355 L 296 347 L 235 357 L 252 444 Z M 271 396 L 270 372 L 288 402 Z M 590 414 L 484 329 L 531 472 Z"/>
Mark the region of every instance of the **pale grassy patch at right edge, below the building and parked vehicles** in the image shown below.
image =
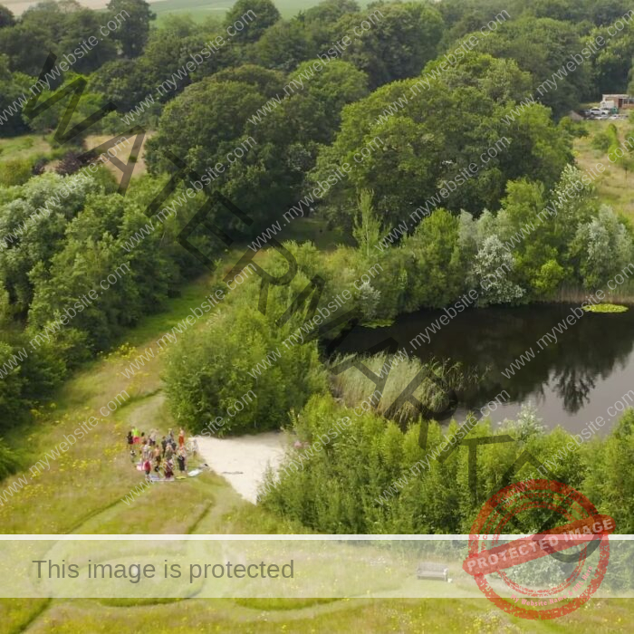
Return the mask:
<path id="1" fill-rule="evenodd" d="M 628 120 L 587 121 L 585 126 L 590 134 L 575 140 L 575 159 L 583 171 L 595 168 L 598 163 L 605 166 L 605 171 L 594 181 L 600 201 L 634 221 L 634 174 L 610 163 L 607 154 L 592 147 L 592 139 L 610 123 L 616 125 L 621 143 L 632 133 L 633 126 Z"/>

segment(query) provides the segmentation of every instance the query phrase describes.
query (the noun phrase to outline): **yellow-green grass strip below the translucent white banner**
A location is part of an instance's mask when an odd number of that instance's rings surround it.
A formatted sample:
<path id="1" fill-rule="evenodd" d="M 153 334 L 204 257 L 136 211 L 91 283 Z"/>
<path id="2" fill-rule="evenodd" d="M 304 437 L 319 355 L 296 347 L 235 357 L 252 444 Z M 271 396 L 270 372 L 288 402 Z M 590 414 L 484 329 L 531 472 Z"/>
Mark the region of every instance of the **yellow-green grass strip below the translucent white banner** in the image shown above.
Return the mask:
<path id="1" fill-rule="evenodd" d="M 521 620 L 497 610 L 486 599 L 474 600 L 182 600 L 142 606 L 100 600 L 13 601 L 6 634 L 84 634 L 85 632 L 461 632 L 461 634 L 607 634 L 629 631 L 626 600 L 591 600 L 557 620 Z M 9 606 L 6 606 L 9 608 Z M 9 616 L 11 618 L 11 616 Z M 24 627 L 24 626 L 28 627 Z"/>

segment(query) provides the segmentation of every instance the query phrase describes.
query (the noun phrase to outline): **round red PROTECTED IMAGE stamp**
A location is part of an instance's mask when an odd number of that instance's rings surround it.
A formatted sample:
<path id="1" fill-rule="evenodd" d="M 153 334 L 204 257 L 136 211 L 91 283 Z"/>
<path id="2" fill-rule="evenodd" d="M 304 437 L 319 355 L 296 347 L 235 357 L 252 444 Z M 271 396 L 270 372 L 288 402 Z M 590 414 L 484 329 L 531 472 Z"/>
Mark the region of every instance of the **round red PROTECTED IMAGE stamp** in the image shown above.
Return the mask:
<path id="1" fill-rule="evenodd" d="M 510 522 L 522 524 L 544 512 L 561 515 L 562 525 L 500 543 L 500 535 L 511 532 Z M 609 515 L 599 514 L 587 497 L 569 485 L 552 480 L 518 482 L 498 491 L 483 506 L 471 527 L 463 568 L 474 576 L 485 596 L 505 612 L 523 619 L 556 619 L 580 608 L 599 588 L 610 559 L 608 535 L 615 528 Z M 550 587 L 528 588 L 511 579 L 509 572 L 514 566 L 557 557 L 559 552 L 561 561 L 573 547 L 574 555 L 569 554 L 566 560 L 575 562 L 572 573 L 561 581 L 553 579 Z M 489 576 L 494 573 L 502 581 Z M 496 583 L 498 591 L 503 591 L 505 584 L 512 597 L 501 596 L 495 590 Z"/>

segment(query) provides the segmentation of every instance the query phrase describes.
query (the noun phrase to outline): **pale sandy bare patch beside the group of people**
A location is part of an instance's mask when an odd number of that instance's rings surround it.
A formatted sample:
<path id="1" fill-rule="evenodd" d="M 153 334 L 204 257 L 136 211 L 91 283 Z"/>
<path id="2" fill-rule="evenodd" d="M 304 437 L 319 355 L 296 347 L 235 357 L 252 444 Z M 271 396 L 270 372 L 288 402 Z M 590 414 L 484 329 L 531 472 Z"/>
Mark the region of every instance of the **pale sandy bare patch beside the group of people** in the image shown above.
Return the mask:
<path id="1" fill-rule="evenodd" d="M 257 489 L 267 466 L 277 469 L 282 462 L 287 437 L 279 431 L 237 438 L 196 437 L 200 455 L 218 476 L 255 504 Z"/>

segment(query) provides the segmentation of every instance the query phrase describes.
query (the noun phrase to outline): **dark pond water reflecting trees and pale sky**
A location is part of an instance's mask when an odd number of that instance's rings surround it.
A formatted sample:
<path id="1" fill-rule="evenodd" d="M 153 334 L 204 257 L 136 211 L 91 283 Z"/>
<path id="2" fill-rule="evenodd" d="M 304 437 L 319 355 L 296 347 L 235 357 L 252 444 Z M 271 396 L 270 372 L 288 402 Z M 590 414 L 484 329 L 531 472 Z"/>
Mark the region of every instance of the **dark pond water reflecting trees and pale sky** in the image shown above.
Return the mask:
<path id="1" fill-rule="evenodd" d="M 484 373 L 482 382 L 457 395 L 460 406 L 453 418 L 459 421 L 505 389 L 510 399 L 491 414 L 495 421 L 515 418 L 522 404 L 530 401 L 548 427 L 562 425 L 578 432 L 602 416 L 609 422 L 601 431 L 607 431 L 620 417 L 612 406 L 634 389 L 634 310 L 585 313 L 567 331 L 555 331 L 557 341 L 550 345 L 544 341 L 540 349 L 537 341 L 571 311 L 572 306 L 561 304 L 469 310 L 458 313 L 435 334 L 427 330 L 429 342 L 419 340 L 421 344 L 412 347 L 410 341 L 445 314 L 417 312 L 399 317 L 387 328 L 355 328 L 337 351 L 360 352 L 373 346 L 395 351 L 394 345 L 380 345 L 391 337 L 410 356 L 456 360 L 478 369 Z M 504 377 L 502 371 L 530 348 L 534 359 Z"/>

